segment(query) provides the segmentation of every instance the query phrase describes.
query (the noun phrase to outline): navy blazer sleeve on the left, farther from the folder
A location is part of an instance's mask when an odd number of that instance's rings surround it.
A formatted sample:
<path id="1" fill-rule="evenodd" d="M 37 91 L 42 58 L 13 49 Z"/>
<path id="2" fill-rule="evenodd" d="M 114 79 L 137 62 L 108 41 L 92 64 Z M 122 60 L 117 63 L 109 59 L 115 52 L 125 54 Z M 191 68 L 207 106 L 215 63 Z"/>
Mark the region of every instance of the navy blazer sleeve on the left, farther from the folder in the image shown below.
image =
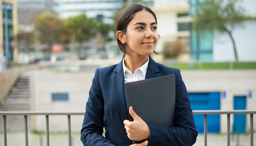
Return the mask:
<path id="1" fill-rule="evenodd" d="M 104 127 L 103 115 L 104 100 L 98 82 L 98 69 L 96 69 L 86 103 L 86 112 L 81 130 L 81 141 L 84 146 L 115 146 L 102 136 Z"/>

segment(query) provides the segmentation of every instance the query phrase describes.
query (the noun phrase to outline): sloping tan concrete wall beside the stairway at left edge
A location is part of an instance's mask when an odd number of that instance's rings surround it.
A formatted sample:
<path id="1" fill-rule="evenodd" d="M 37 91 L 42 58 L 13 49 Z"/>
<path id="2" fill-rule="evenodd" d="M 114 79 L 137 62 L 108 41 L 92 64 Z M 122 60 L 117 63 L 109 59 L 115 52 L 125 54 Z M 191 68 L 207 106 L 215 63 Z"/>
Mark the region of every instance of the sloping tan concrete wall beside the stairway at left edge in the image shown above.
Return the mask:
<path id="1" fill-rule="evenodd" d="M 4 100 L 19 76 L 19 68 L 11 68 L 0 72 L 0 101 Z"/>

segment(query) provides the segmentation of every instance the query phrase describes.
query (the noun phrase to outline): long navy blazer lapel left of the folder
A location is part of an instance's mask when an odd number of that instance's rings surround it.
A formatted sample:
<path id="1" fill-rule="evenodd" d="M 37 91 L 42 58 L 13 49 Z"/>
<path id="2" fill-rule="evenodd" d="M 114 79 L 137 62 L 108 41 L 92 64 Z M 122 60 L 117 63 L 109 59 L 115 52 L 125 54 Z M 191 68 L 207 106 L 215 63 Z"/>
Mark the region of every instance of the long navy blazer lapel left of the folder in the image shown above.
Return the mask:
<path id="1" fill-rule="evenodd" d="M 116 101 L 116 105 L 118 111 L 123 120 L 128 119 L 127 113 L 127 104 L 126 97 L 124 91 L 124 70 L 123 70 L 123 61 L 121 61 L 116 68 L 114 69 L 116 74 L 112 76 L 112 88 L 114 91 L 114 99 Z"/>

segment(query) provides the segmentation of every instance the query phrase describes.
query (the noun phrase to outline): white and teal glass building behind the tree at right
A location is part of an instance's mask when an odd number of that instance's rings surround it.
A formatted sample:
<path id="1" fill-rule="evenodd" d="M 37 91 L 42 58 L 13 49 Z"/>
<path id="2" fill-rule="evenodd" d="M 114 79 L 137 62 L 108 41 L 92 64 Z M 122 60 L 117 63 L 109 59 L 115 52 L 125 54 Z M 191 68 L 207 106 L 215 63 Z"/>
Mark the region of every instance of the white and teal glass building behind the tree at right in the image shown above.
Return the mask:
<path id="1" fill-rule="evenodd" d="M 191 16 L 195 15 L 197 6 L 206 0 L 190 0 Z M 235 28 L 231 33 L 237 47 L 239 61 L 256 61 L 256 1 L 242 0 L 239 3 L 245 9 L 245 15 L 251 19 L 242 22 L 243 27 Z M 233 44 L 227 34 L 204 31 L 200 34 L 191 30 L 191 59 L 208 61 L 234 61 Z"/>

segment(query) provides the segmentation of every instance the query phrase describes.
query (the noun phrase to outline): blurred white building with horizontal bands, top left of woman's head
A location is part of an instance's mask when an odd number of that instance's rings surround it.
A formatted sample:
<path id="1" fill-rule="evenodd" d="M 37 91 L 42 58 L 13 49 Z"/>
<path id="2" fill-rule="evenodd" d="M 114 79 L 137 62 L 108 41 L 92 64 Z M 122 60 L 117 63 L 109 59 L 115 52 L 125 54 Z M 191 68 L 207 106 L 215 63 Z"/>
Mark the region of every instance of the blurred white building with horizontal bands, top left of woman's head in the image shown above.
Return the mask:
<path id="1" fill-rule="evenodd" d="M 113 23 L 112 16 L 129 0 L 54 0 L 54 11 L 61 19 L 84 13 L 89 18 Z"/>

